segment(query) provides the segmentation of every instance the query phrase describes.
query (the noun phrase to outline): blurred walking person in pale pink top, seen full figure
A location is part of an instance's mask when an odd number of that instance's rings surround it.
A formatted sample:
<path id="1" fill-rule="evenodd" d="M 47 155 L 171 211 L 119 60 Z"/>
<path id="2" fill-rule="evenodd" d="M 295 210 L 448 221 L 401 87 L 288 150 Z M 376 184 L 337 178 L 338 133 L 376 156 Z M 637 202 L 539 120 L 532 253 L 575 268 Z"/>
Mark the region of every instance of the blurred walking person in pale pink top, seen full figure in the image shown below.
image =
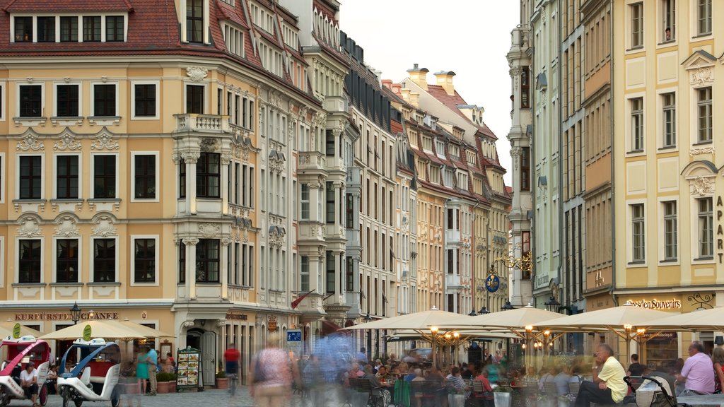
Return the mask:
<path id="1" fill-rule="evenodd" d="M 297 364 L 279 348 L 279 334 L 266 337 L 266 348 L 258 351 L 251 363 L 249 394 L 259 407 L 282 407 L 292 393 L 292 380 L 297 380 Z"/>

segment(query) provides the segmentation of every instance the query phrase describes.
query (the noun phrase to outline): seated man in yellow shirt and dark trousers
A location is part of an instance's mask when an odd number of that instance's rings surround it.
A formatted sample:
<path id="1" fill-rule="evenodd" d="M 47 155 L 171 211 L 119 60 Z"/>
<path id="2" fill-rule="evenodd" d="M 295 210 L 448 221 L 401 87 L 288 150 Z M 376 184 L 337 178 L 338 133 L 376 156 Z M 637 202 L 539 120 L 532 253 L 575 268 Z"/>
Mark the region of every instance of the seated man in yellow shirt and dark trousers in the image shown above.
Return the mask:
<path id="1" fill-rule="evenodd" d="M 613 349 L 605 343 L 596 348 L 596 365 L 593 366 L 593 382 L 581 383 L 576 396 L 576 407 L 589 407 L 591 403 L 620 404 L 628 387 L 623 377 L 623 366 L 613 357 Z"/>

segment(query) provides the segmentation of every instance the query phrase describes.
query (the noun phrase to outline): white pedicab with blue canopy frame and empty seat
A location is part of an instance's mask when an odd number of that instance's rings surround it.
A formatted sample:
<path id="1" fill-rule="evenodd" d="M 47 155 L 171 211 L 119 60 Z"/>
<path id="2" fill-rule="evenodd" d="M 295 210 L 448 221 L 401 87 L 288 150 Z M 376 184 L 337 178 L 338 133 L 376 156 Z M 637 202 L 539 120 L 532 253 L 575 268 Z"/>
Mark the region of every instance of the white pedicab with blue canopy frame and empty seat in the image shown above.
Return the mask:
<path id="1" fill-rule="evenodd" d="M 73 361 L 79 361 L 73 366 Z M 58 371 L 58 391 L 63 407 L 72 401 L 80 407 L 83 401 L 111 401 L 117 407 L 120 400 L 118 375 L 121 369 L 121 348 L 117 343 L 101 338 L 78 339 L 68 348 Z"/>

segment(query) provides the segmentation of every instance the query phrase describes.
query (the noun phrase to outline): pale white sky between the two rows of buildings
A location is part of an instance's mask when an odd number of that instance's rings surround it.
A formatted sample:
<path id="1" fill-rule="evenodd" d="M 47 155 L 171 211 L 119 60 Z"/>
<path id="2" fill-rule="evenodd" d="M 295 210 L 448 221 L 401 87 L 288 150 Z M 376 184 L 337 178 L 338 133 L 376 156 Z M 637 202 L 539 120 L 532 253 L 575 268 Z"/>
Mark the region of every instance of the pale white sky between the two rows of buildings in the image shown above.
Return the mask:
<path id="1" fill-rule="evenodd" d="M 454 71 L 453 85 L 468 104 L 482 106 L 497 135 L 500 163 L 511 185 L 510 31 L 520 22 L 516 0 L 340 0 L 340 28 L 364 49 L 365 63 L 395 83 L 413 64 Z"/>

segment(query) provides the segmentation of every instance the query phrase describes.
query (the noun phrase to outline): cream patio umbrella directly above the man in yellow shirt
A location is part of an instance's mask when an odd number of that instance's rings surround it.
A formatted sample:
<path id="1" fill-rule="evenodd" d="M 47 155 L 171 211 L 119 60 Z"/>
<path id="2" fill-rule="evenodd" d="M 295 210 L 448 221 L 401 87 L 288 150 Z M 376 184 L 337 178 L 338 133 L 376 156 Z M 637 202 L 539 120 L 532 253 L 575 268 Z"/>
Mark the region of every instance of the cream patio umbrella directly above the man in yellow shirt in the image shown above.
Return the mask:
<path id="1" fill-rule="evenodd" d="M 657 319 L 671 316 L 670 312 L 656 311 L 654 309 L 641 308 L 626 303 L 623 306 L 598 309 L 596 311 L 583 312 L 563 316 L 557 319 L 542 321 L 535 325 L 539 330 L 555 331 L 584 331 L 584 332 L 605 332 L 610 331 L 623 338 L 626 342 L 626 356 L 631 356 L 631 340 L 639 343 L 646 343 L 658 335 L 661 330 L 657 329 L 652 335 L 644 337 L 644 333 Z"/>

